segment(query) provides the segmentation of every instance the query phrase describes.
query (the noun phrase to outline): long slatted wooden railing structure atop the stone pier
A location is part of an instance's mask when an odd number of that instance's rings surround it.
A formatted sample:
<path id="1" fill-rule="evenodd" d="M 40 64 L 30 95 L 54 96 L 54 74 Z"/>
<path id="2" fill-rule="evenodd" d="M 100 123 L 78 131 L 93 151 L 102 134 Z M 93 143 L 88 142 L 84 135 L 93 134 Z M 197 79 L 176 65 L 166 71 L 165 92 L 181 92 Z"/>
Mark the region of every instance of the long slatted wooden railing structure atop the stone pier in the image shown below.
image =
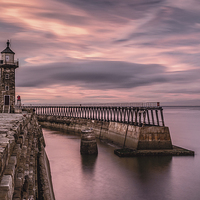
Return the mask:
<path id="1" fill-rule="evenodd" d="M 55 115 L 108 122 L 128 123 L 136 126 L 165 126 L 163 109 L 159 103 L 138 106 L 23 106 L 34 109 L 37 115 Z"/>

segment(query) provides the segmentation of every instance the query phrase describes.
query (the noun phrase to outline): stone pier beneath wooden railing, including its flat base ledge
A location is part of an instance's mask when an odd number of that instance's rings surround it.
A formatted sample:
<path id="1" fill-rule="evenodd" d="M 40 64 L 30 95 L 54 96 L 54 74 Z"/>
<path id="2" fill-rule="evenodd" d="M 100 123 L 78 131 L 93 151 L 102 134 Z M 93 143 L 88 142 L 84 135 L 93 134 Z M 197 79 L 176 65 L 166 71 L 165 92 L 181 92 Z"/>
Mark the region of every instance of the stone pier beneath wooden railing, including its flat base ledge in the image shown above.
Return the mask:
<path id="1" fill-rule="evenodd" d="M 169 128 L 166 126 L 135 126 L 119 122 L 52 115 L 37 115 L 37 117 L 42 126 L 59 128 L 69 133 L 81 134 L 81 130 L 92 128 L 97 138 L 122 147 L 115 151 L 118 156 L 194 155 L 194 151 L 172 145 Z"/>

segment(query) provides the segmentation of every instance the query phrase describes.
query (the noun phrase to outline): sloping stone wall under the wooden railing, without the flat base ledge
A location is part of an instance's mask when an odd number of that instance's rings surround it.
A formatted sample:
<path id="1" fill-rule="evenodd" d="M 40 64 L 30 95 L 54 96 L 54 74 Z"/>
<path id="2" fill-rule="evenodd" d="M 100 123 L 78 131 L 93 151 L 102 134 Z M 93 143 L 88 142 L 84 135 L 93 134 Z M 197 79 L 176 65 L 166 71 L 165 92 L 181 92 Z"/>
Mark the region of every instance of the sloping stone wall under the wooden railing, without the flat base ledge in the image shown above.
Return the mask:
<path id="1" fill-rule="evenodd" d="M 42 126 L 59 128 L 70 133 L 81 133 L 81 130 L 93 128 L 96 137 L 108 139 L 119 145 L 138 150 L 171 149 L 172 142 L 169 128 L 166 126 L 134 126 L 119 122 L 37 115 Z"/>

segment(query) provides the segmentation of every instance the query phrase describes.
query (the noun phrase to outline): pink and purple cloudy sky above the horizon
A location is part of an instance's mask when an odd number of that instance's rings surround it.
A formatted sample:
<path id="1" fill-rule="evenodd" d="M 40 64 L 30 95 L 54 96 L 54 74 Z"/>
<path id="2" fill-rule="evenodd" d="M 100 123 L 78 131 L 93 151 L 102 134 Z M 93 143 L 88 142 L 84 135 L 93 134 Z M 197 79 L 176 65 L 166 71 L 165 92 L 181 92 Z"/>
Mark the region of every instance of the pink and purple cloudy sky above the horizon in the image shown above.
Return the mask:
<path id="1" fill-rule="evenodd" d="M 29 104 L 200 105 L 199 0 L 0 0 Z"/>

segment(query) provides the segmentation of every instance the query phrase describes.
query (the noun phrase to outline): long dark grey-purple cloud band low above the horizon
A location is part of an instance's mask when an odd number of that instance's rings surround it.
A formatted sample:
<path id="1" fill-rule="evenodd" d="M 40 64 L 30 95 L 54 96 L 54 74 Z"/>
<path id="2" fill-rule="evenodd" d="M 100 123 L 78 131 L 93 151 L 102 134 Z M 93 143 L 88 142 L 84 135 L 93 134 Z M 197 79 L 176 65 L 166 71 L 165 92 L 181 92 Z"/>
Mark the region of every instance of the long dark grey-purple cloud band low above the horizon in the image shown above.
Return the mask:
<path id="1" fill-rule="evenodd" d="M 95 66 L 95 67 L 94 67 Z M 53 63 L 18 72 L 17 86 L 77 85 L 83 89 L 127 89 L 164 83 L 195 83 L 200 69 L 166 72 L 162 65 L 116 61 Z"/>

